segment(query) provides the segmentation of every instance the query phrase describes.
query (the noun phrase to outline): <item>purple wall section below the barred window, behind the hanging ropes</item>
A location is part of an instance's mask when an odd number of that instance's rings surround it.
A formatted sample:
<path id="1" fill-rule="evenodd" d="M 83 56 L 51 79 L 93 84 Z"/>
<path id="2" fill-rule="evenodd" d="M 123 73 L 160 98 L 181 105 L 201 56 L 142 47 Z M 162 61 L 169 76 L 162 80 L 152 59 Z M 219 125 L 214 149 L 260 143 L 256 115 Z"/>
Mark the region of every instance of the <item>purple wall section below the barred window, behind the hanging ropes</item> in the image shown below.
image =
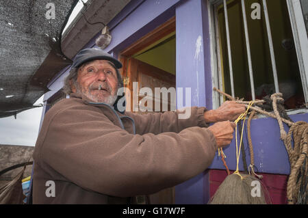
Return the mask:
<path id="1" fill-rule="evenodd" d="M 308 122 L 307 114 L 290 115 L 290 118 L 296 122 L 303 120 Z M 246 126 L 246 123 L 245 123 Z M 288 132 L 289 128 L 284 124 L 285 131 Z M 246 163 L 251 163 L 248 141 L 246 137 L 246 128 L 243 134 L 243 144 L 246 153 Z M 225 159 L 229 169 L 235 170 L 235 135 L 233 135 L 233 141 L 230 146 L 224 148 Z M 240 141 L 240 134 L 238 133 L 238 140 Z M 283 141 L 280 139 L 279 124 L 276 119 L 273 118 L 259 118 L 251 120 L 251 141 L 253 141 L 253 153 L 255 157 L 255 166 L 257 172 L 270 173 L 270 174 L 290 174 L 290 163 L 287 156 L 287 150 Z M 240 142 L 238 142 L 240 143 Z M 225 169 L 222 165 L 222 161 L 218 159 L 217 153 L 213 163 L 210 166 L 211 169 Z M 239 162 L 240 170 L 243 170 L 242 154 Z"/>

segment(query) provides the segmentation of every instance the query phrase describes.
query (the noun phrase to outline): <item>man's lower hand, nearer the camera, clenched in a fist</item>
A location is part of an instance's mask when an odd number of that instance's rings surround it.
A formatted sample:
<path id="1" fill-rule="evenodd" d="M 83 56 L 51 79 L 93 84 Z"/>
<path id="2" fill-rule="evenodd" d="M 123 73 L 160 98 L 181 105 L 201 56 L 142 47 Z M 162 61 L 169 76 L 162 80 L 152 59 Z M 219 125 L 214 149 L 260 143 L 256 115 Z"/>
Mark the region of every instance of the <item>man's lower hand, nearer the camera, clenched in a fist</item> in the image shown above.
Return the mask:
<path id="1" fill-rule="evenodd" d="M 223 148 L 231 143 L 233 139 L 233 132 L 235 123 L 230 121 L 216 122 L 216 124 L 207 128 L 213 133 L 218 148 Z"/>

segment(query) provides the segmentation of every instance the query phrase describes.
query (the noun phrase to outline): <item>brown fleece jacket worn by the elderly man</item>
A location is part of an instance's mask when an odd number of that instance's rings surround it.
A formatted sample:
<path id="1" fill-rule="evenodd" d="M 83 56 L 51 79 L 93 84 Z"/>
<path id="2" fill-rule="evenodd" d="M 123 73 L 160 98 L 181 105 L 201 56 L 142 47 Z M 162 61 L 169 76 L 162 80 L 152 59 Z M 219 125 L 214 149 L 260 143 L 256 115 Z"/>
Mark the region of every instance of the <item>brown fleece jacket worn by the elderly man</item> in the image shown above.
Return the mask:
<path id="1" fill-rule="evenodd" d="M 203 172 L 217 150 L 205 107 L 124 114 L 71 96 L 45 115 L 34 151 L 34 204 L 127 203 Z M 55 182 L 55 197 L 47 197 Z M 50 189 L 49 189 L 50 190 Z"/>

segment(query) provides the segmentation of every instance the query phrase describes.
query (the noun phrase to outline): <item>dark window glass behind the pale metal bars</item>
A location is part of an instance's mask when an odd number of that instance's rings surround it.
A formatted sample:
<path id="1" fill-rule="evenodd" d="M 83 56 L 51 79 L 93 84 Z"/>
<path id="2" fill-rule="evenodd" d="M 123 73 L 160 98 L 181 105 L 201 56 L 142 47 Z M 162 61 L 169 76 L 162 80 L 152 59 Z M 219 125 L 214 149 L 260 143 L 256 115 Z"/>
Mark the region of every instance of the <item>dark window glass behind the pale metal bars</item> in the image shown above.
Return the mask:
<path id="1" fill-rule="evenodd" d="M 251 16 L 254 10 L 251 8 L 251 5 L 256 2 L 260 5 L 260 19 L 253 19 Z M 287 4 L 285 1 L 271 0 L 267 1 L 267 5 L 279 80 L 279 91 L 283 93 L 283 97 L 285 98 L 286 109 L 303 107 L 305 98 L 303 95 L 302 83 L 300 81 L 298 59 L 296 57 Z M 275 92 L 268 33 L 266 31 L 266 19 L 262 1 L 247 0 L 245 1 L 245 7 L 253 64 L 255 96 L 257 99 L 261 99 Z M 235 96 L 251 100 L 251 85 L 241 1 L 228 1 L 227 10 Z M 222 80 L 224 86 L 220 88 L 222 88 L 224 92 L 231 94 L 223 5 L 218 6 L 218 29 L 222 56 Z"/>

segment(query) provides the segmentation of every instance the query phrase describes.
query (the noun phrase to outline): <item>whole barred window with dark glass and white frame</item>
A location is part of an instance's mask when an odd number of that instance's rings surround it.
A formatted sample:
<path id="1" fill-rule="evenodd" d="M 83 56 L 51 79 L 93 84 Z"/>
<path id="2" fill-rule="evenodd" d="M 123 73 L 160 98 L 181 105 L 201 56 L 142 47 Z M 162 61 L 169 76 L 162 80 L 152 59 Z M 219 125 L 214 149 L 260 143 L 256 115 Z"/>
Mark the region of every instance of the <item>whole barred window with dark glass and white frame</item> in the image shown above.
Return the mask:
<path id="1" fill-rule="evenodd" d="M 307 32 L 296 1 L 211 1 L 215 87 L 246 100 L 281 92 L 286 109 L 307 107 Z M 224 100 L 214 95 L 214 107 Z"/>

